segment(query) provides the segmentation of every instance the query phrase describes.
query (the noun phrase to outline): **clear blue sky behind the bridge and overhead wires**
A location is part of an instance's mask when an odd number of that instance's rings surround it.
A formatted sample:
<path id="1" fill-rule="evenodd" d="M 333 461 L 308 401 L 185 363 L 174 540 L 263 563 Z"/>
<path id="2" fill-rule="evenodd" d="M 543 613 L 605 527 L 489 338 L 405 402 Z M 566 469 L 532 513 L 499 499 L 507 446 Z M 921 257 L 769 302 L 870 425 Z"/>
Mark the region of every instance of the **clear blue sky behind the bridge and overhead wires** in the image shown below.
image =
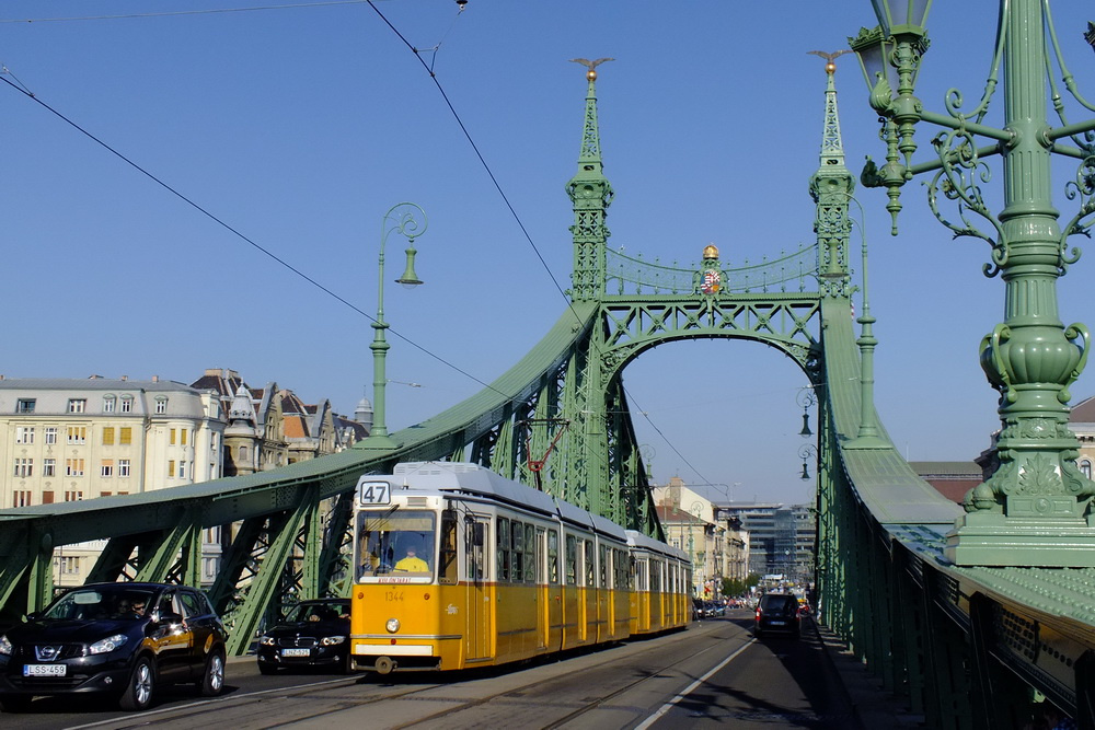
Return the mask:
<path id="1" fill-rule="evenodd" d="M 807 51 L 845 48 L 846 36 L 875 24 L 866 0 L 470 0 L 459 16 L 453 0 L 378 1 L 416 57 L 366 3 L 292 4 L 191 13 L 247 3 L 165 0 L 155 12 L 178 14 L 154 15 L 147 2 L 9 0 L 3 79 L 369 314 L 381 218 L 402 200 L 422 205 L 427 285 L 385 288 L 393 329 L 422 348 L 391 337 L 389 376 L 422 385 L 389 386 L 392 429 L 479 391 L 461 370 L 489 382 L 565 308 L 555 283 L 569 286 L 563 186 L 576 170 L 586 92 L 585 69 L 567 59 L 616 59 L 598 69 L 602 154 L 616 192 L 611 245 L 690 263 L 713 242 L 737 263 L 814 241 L 807 181 L 818 166 L 825 72 Z M 1058 4 L 1067 60 L 1095 96 L 1086 10 Z M 995 11 L 969 8 L 932 10 L 918 86 L 929 108 L 942 112 L 952 86 L 968 107 L 980 97 Z M 27 19 L 35 22 L 9 22 Z M 865 155 L 880 160 L 884 150 L 854 57 L 838 65 L 844 149 L 857 174 Z M 990 121 L 999 124 L 1002 101 Z M 367 317 L 9 84 L 0 84 L 0 373 L 189 382 L 206 368 L 232 368 L 254 386 L 277 381 L 353 412 L 372 380 Z M 933 135 L 918 132 L 921 158 Z M 987 189 L 999 209 L 994 171 Z M 1073 173 L 1067 164 L 1054 179 L 1065 219 L 1074 204 L 1060 193 Z M 885 195 L 861 187 L 857 197 L 872 247 L 884 422 L 911 460 L 972 459 L 998 426 L 977 362 L 980 338 L 1003 313 L 1002 281 L 981 275 L 988 246 L 952 241 L 919 182 L 904 192 L 896 239 Z M 402 271 L 401 250 L 389 241 L 388 279 Z M 1095 324 L 1091 266 L 1084 258 L 1061 280 L 1067 324 Z M 1093 383 L 1085 374 L 1073 403 L 1095 393 Z M 737 485 L 736 499 L 808 498 L 796 405 L 805 384 L 782 356 L 746 343 L 666 346 L 625 372 L 649 417 L 637 427 L 655 477 Z"/>

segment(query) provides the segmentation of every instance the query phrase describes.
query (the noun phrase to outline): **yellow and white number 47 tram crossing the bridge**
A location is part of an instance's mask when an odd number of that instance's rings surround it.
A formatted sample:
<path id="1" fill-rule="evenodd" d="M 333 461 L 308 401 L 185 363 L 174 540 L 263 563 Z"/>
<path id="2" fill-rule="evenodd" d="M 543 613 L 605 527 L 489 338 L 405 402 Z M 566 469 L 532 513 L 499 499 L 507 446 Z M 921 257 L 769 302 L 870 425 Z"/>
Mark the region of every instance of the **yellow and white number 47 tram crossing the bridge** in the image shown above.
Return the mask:
<path id="1" fill-rule="evenodd" d="M 687 625 L 681 551 L 477 464 L 394 471 L 357 487 L 356 669 L 503 664 Z"/>

